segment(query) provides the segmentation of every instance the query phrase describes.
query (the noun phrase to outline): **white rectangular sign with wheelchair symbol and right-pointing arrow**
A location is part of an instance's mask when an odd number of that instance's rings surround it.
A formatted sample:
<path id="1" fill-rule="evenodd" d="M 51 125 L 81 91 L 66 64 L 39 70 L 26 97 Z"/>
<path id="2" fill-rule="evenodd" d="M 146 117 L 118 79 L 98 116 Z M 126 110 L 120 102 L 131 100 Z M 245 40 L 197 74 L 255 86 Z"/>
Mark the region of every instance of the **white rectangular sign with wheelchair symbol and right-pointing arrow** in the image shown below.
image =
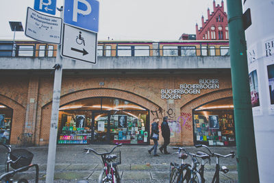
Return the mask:
<path id="1" fill-rule="evenodd" d="M 97 34 L 64 25 L 61 55 L 73 60 L 96 63 Z"/>

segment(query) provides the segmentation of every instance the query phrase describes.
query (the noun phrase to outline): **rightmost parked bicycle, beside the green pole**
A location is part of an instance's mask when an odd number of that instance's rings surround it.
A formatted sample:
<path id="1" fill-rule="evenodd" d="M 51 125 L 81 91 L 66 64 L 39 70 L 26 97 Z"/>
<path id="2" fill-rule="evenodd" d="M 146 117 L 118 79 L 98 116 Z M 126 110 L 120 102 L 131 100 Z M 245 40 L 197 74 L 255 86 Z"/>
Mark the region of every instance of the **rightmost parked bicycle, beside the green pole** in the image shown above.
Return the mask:
<path id="1" fill-rule="evenodd" d="M 204 151 L 198 151 L 197 152 L 197 155 L 198 156 L 208 156 L 209 158 L 210 157 L 216 157 L 216 167 L 215 167 L 215 173 L 214 173 L 214 176 L 212 178 L 212 183 L 219 183 L 220 182 L 220 171 L 223 172 L 223 173 L 227 173 L 229 171 L 229 169 L 227 169 L 227 167 L 225 166 L 222 166 L 220 168 L 220 164 L 219 164 L 219 158 L 222 157 L 222 158 L 227 158 L 229 156 L 231 156 L 232 158 L 234 158 L 235 156 L 235 153 L 234 151 L 231 151 L 230 154 L 227 154 L 227 155 L 222 155 L 222 154 L 217 154 L 217 153 L 214 153 L 212 151 L 210 151 L 210 148 L 206 145 L 195 145 L 195 147 L 205 147 L 206 149 L 208 149 L 208 152 L 209 153 L 206 153 Z M 205 182 L 205 179 L 203 177 L 203 172 L 204 172 L 204 163 L 202 162 L 201 164 L 201 168 L 199 169 L 199 173 L 201 175 L 201 178 L 203 180 L 203 182 Z"/>

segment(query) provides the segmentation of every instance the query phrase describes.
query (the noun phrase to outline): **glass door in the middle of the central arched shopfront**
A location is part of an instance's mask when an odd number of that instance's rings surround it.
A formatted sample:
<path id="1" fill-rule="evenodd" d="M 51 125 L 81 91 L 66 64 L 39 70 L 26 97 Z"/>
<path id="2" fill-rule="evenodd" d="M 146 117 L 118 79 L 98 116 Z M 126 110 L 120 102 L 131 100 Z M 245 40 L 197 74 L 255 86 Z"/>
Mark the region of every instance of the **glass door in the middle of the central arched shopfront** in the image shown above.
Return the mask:
<path id="1" fill-rule="evenodd" d="M 110 142 L 110 113 L 108 111 L 92 112 L 91 143 Z"/>

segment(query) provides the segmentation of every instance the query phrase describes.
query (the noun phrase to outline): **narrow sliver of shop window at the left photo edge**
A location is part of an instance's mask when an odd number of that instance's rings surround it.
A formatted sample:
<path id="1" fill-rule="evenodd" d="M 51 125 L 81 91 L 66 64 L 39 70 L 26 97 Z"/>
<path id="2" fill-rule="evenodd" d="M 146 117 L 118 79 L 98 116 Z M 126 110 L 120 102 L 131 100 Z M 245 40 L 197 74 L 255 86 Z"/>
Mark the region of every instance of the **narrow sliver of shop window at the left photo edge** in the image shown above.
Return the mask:
<path id="1" fill-rule="evenodd" d="M 0 104 L 0 143 L 10 144 L 12 109 Z"/>

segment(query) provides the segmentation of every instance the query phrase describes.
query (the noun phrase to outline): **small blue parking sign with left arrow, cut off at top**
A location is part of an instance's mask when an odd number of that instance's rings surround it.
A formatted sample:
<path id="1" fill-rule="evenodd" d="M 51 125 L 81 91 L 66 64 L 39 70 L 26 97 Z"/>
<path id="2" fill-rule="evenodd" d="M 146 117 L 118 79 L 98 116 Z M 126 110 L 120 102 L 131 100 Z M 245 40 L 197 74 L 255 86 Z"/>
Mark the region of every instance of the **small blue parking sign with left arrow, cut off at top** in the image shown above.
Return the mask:
<path id="1" fill-rule="evenodd" d="M 55 15 L 56 0 L 35 0 L 34 10 Z"/>

